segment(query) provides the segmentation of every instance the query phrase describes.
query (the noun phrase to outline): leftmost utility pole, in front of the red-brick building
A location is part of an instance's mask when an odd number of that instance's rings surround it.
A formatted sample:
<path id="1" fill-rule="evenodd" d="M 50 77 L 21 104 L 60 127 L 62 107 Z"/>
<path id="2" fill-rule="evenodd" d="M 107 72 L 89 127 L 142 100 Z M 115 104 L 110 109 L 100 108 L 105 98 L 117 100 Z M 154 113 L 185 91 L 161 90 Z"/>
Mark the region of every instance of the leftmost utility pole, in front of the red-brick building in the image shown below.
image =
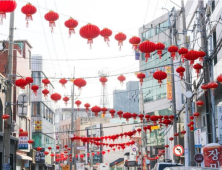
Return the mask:
<path id="1" fill-rule="evenodd" d="M 7 90 L 5 94 L 5 114 L 9 115 L 9 119 L 4 121 L 4 164 L 10 165 L 10 135 L 12 123 L 12 64 L 13 64 L 13 46 L 14 46 L 14 12 L 10 14 L 9 25 L 9 47 L 8 47 L 8 62 L 6 68 Z M 3 169 L 3 168 L 2 168 Z"/>

